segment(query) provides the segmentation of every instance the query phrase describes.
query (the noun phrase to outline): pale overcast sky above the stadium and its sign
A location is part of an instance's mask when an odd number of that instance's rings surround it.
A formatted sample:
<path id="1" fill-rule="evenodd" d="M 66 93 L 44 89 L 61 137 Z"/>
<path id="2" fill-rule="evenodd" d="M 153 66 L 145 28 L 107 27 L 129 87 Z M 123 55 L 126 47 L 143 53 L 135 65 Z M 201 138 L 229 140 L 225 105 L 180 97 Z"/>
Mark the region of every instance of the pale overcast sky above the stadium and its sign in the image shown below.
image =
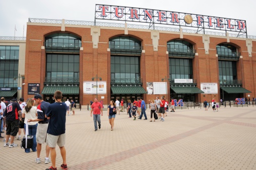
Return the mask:
<path id="1" fill-rule="evenodd" d="M 247 34 L 256 35 L 256 21 L 254 20 L 256 16 L 255 0 L 0 0 L 0 36 L 14 36 L 15 25 L 17 29 L 16 36 L 23 36 L 23 25 L 25 25 L 24 36 L 26 36 L 28 18 L 94 21 L 95 4 L 138 7 L 246 20 Z M 111 21 L 105 20 L 102 22 Z"/>

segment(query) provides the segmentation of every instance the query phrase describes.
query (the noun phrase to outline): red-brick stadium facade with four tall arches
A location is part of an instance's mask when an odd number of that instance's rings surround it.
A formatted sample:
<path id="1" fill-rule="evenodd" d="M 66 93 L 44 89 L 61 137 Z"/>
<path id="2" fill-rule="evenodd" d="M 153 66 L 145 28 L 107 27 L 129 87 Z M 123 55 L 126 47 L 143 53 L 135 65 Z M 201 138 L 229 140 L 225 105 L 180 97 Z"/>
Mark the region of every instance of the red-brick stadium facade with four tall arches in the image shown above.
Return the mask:
<path id="1" fill-rule="evenodd" d="M 124 24 L 123 28 L 118 28 L 111 26 L 104 27 L 72 25 L 67 23 L 65 24 L 65 20 L 59 21 L 59 24 L 33 22 L 27 23 L 24 98 L 33 97 L 32 94 L 28 94 L 29 83 L 39 83 L 40 93 L 44 92 L 44 99 L 49 101 L 52 99 L 52 94 L 45 92 L 46 89 L 44 88 L 46 86 L 54 89 L 58 89 L 56 87 L 61 89 L 60 87 L 65 86 L 66 90 L 68 87 L 76 87 L 77 89 L 75 90 L 76 92 L 74 92 L 74 94 L 71 94 L 72 92 L 66 92 L 66 94 L 63 96 L 66 96 L 66 98 L 75 98 L 78 103 L 87 105 L 90 103 L 90 100 L 93 100 L 93 98 L 96 97 L 96 94 L 84 94 L 83 83 L 86 81 L 92 81 L 92 77 L 97 75 L 101 77 L 102 81 L 106 82 L 106 93 L 98 94 L 98 98 L 102 100 L 104 104 L 109 103 L 110 99 L 115 98 L 124 98 L 127 100 L 141 96 L 144 97 L 145 101 L 148 101 L 149 99 L 154 99 L 156 96 L 162 96 L 164 94 L 147 94 L 147 82 L 162 82 L 162 79 L 165 77 L 169 79 L 164 79 L 164 82 L 168 82 L 168 94 L 167 96 L 164 95 L 167 99 L 170 99 L 170 97 L 175 98 L 175 96 L 182 98 L 184 96 L 187 98 L 186 101 L 194 100 L 200 102 L 204 101 L 204 99 L 210 101 L 215 97 L 219 101 L 219 99 L 223 96 L 222 89 L 220 88 L 220 86 L 223 85 L 223 82 L 220 81 L 220 75 L 222 74 L 219 73 L 219 70 L 221 67 L 224 67 L 219 66 L 220 61 L 233 61 L 235 64 L 235 68 L 233 69 L 236 70 L 236 77 L 232 79 L 232 82 L 230 81 L 231 83 L 224 82 L 227 87 L 243 87 L 244 89 L 251 92 L 238 92 L 239 94 L 224 92 L 224 99 L 229 97 L 231 99 L 234 97 L 248 97 L 248 95 L 250 98 L 256 96 L 256 41 L 254 39 L 235 38 L 230 37 L 228 34 L 226 34 L 226 36 L 217 36 L 197 33 L 184 33 L 182 29 L 180 29 L 179 32 L 157 31 L 127 28 L 127 24 Z M 55 47 L 55 49 L 53 49 L 53 42 L 49 42 L 48 39 L 49 37 L 52 38 L 52 34 L 57 33 L 61 36 L 63 33 L 67 33 L 72 36 L 74 35 L 77 39 L 79 39 L 79 42 L 81 41 L 81 44 L 76 47 L 76 49 L 73 49 L 73 46 L 71 47 L 71 43 L 69 43 L 69 48 L 67 49 L 63 47 L 63 44 L 62 46 L 60 44 L 59 47 Z M 130 47 L 126 49 L 118 47 L 117 49 L 115 46 L 111 46 L 112 40 L 116 37 L 120 37 L 120 43 L 123 38 L 125 39 L 130 37 L 138 42 L 140 41 L 141 43 L 138 45 L 137 50 L 131 50 Z M 171 48 L 168 49 L 168 47 L 171 47 L 167 45 L 168 42 L 173 42 L 174 45 L 175 43 L 190 44 L 190 48 L 193 49 L 193 51 L 190 51 L 189 53 L 184 53 L 184 51 L 175 52 L 171 50 Z M 51 43 L 51 45 L 47 43 Z M 220 54 L 218 54 L 216 48 L 216 46 L 220 44 L 231 45 L 233 49 L 236 49 L 234 52 L 235 58 L 232 58 L 232 54 L 223 55 L 220 57 Z M 176 48 L 176 46 L 174 48 L 179 49 L 179 47 Z M 49 58 L 52 56 L 53 61 L 53 55 L 58 54 L 74 54 L 74 58 L 79 56 L 79 74 L 77 77 L 78 81 L 76 81 L 76 83 L 72 81 L 69 83 L 63 83 L 63 81 L 58 81 L 58 79 L 57 82 L 47 81 L 47 55 L 49 55 Z M 121 77 L 114 77 L 119 76 L 119 72 L 117 71 L 118 73 L 116 72 L 117 74 L 115 74 L 115 71 L 111 70 L 111 67 L 117 68 L 117 65 L 111 65 L 111 57 L 113 56 L 117 56 L 118 58 L 136 56 L 136 58 L 139 59 L 138 74 L 140 80 L 137 82 L 132 81 L 133 73 L 131 70 L 129 71 L 129 69 L 125 72 L 131 73 L 131 76 L 127 78 L 128 81 L 122 82 L 119 81 Z M 172 61 L 171 59 L 177 59 L 177 61 L 180 61 L 180 59 L 187 59 L 191 62 L 193 67 L 193 74 L 192 77 L 188 79 L 193 79 L 193 83 L 174 83 L 173 77 L 171 77 L 172 73 L 170 73 L 172 72 L 170 71 L 170 61 Z M 133 59 L 131 58 L 130 60 L 132 61 Z M 64 65 L 65 64 L 62 66 L 63 69 L 65 68 Z M 124 65 L 127 66 L 127 63 L 124 63 Z M 74 67 L 76 67 L 75 64 Z M 132 67 L 133 66 L 131 66 L 131 68 Z M 181 67 L 183 69 L 183 65 L 180 65 L 178 69 Z M 53 69 L 54 67 L 52 66 L 52 70 Z M 53 74 L 52 70 L 49 72 L 48 78 L 52 77 L 50 75 Z M 176 72 L 176 75 L 177 74 L 182 73 Z M 186 74 L 184 73 L 183 75 Z M 231 73 L 230 76 L 232 76 Z M 137 79 L 138 76 L 135 78 Z M 100 82 L 100 80 L 98 81 Z M 183 94 L 179 95 L 176 94 L 176 91 L 172 89 L 172 87 L 175 85 L 177 87 L 188 87 L 188 89 L 191 86 L 195 86 L 200 89 L 201 83 L 217 83 L 218 93 L 206 94 L 193 92 L 193 95 L 186 96 L 185 92 L 182 92 Z M 136 94 L 136 92 L 127 94 L 125 90 L 124 92 L 118 93 L 114 92 L 115 89 L 112 88 L 117 86 L 126 88 L 127 85 L 137 85 L 137 87 L 141 86 L 145 91 L 139 94 Z M 69 97 L 71 95 L 72 97 Z M 185 99 L 183 99 L 183 101 L 185 101 Z"/>

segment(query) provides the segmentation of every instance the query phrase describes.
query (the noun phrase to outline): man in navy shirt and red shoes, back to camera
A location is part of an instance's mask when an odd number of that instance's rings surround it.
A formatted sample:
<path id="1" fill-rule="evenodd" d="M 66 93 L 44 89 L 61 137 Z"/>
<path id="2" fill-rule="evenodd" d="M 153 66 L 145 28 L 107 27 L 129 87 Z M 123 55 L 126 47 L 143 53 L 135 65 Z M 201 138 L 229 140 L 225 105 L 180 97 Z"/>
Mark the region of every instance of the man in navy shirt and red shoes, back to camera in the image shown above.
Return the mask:
<path id="1" fill-rule="evenodd" d="M 49 126 L 47 129 L 47 140 L 46 145 L 50 147 L 51 153 L 51 166 L 45 170 L 54 170 L 57 169 L 56 167 L 56 144 L 58 144 L 61 157 L 62 157 L 62 164 L 60 165 L 63 169 L 68 169 L 66 163 L 66 149 L 65 149 L 65 142 L 66 142 L 66 110 L 67 105 L 66 103 L 61 101 L 62 93 L 61 91 L 57 90 L 54 93 L 54 100 L 55 103 L 52 103 L 48 106 L 46 116 L 47 119 L 50 120 Z"/>

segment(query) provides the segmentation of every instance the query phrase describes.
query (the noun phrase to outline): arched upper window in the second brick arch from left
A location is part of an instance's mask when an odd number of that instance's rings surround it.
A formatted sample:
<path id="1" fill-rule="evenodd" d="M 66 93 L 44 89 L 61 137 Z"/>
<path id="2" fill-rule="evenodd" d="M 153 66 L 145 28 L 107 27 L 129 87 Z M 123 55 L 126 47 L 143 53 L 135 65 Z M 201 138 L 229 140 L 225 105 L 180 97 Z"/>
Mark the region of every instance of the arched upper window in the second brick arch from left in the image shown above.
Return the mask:
<path id="1" fill-rule="evenodd" d="M 109 40 L 110 49 L 142 50 L 141 41 L 128 36 L 118 36 Z"/>

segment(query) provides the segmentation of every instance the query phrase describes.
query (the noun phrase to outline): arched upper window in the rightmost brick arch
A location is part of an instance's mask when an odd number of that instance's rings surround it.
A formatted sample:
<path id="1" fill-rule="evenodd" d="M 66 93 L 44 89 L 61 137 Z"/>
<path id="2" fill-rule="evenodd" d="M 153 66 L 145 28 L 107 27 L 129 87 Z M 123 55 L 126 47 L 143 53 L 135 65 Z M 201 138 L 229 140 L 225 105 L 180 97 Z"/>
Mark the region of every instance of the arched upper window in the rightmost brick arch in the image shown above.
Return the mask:
<path id="1" fill-rule="evenodd" d="M 239 52 L 237 52 L 236 47 L 234 47 L 231 44 L 218 44 L 216 46 L 217 49 L 217 54 L 218 56 L 228 56 L 228 57 L 232 57 L 232 56 L 239 56 Z"/>

